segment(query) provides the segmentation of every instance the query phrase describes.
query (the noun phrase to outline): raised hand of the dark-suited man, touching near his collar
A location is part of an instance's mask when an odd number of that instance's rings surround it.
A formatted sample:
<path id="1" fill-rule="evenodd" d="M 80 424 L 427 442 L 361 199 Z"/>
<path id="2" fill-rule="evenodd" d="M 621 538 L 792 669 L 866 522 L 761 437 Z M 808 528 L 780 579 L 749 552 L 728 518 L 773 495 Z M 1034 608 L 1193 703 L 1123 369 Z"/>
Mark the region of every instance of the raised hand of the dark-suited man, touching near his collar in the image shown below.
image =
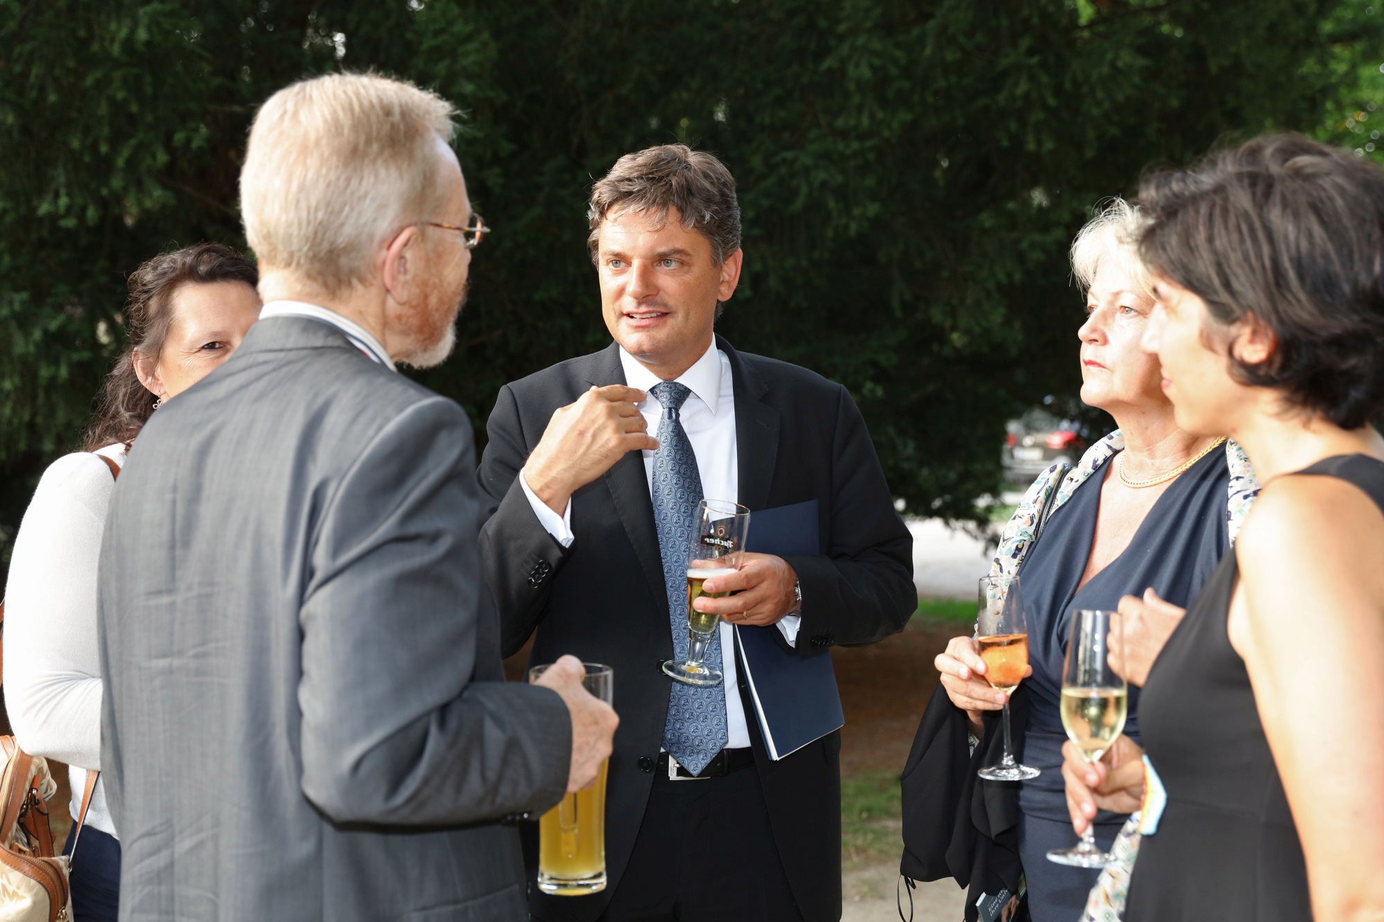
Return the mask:
<path id="1" fill-rule="evenodd" d="M 627 451 L 659 447 L 635 404 L 645 393 L 624 385 L 592 386 L 554 411 L 520 472 L 529 489 L 562 515 L 572 494 L 614 467 Z"/>

